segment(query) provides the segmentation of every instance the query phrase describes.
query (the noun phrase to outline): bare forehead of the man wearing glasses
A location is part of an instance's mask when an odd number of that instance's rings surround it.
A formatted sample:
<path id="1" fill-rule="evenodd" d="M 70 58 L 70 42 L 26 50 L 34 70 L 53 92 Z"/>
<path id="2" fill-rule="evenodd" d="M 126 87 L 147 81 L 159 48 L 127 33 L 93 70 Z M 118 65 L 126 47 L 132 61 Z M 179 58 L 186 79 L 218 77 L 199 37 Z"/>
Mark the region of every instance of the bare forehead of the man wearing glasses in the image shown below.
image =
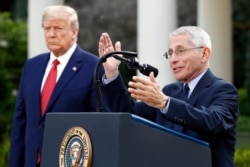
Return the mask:
<path id="1" fill-rule="evenodd" d="M 168 48 L 175 49 L 192 46 L 189 35 L 174 35 L 169 38 Z"/>

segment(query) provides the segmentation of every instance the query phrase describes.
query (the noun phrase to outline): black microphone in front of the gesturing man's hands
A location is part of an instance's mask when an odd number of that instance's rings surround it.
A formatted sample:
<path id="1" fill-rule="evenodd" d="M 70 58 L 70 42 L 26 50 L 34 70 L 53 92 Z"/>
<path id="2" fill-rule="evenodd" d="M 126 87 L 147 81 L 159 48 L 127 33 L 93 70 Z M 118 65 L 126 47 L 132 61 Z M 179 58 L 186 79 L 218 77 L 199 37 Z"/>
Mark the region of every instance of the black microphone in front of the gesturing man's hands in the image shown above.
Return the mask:
<path id="1" fill-rule="evenodd" d="M 114 58 L 120 60 L 127 64 L 130 69 L 138 69 L 142 74 L 149 76 L 151 72 L 154 73 L 154 76 L 157 77 L 158 69 L 149 65 L 149 64 L 140 64 L 136 57 L 133 58 L 125 58 L 118 55 L 113 55 Z"/>

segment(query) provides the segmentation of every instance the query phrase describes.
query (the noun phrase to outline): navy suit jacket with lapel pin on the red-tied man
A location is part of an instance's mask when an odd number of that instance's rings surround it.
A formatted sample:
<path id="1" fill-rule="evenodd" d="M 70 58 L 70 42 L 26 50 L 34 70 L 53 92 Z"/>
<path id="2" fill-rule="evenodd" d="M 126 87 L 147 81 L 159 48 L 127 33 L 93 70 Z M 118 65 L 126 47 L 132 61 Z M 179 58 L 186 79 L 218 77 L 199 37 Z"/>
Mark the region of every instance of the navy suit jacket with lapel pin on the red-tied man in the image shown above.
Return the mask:
<path id="1" fill-rule="evenodd" d="M 24 65 L 12 124 L 10 167 L 36 166 L 45 123 L 45 116 L 40 116 L 40 90 L 48 61 L 49 53 L 45 53 Z M 97 62 L 97 56 L 77 47 L 56 84 L 46 113 L 96 111 L 93 76 Z"/>

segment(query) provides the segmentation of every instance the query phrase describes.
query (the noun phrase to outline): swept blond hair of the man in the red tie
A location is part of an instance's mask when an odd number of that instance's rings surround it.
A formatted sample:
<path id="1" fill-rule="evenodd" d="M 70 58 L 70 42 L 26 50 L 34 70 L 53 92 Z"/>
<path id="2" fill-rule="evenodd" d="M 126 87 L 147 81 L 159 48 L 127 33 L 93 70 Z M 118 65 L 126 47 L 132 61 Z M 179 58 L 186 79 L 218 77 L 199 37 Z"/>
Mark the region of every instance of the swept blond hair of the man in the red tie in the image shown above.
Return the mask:
<path id="1" fill-rule="evenodd" d="M 69 6 L 55 5 L 46 7 L 42 16 L 42 26 L 46 19 L 66 19 L 69 21 L 72 30 L 79 29 L 77 13 L 75 9 Z"/>

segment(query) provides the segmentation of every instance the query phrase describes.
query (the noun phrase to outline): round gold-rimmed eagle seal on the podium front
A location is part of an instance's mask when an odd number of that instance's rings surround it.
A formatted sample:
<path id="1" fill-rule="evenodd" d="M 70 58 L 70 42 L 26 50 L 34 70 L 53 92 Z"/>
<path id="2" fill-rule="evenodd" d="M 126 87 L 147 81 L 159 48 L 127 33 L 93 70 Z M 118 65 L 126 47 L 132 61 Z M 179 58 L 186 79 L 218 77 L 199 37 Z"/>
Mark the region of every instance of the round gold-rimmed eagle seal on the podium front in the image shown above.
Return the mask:
<path id="1" fill-rule="evenodd" d="M 70 128 L 63 137 L 59 151 L 59 167 L 91 167 L 92 146 L 87 131 Z"/>

